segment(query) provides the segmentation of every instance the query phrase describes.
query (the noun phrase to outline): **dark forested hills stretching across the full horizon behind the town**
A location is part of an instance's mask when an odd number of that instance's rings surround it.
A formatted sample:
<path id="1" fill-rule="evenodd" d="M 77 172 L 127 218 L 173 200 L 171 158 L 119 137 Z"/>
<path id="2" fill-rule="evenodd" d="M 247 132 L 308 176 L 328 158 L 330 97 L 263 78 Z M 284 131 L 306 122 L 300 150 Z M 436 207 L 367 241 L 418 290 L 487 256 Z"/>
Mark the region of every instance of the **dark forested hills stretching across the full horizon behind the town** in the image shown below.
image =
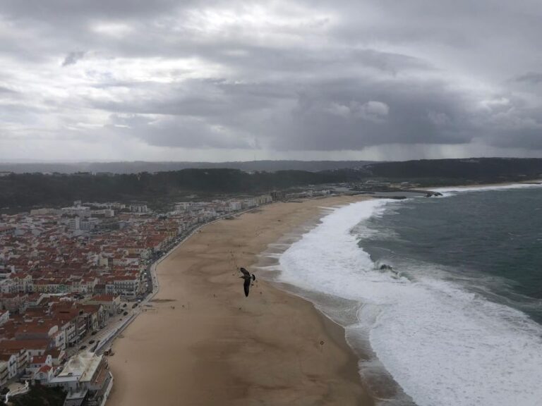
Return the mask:
<path id="1" fill-rule="evenodd" d="M 157 173 L 11 173 L 0 176 L 0 209 L 58 207 L 90 202 L 141 200 L 164 204 L 190 195 L 267 193 L 289 187 L 380 180 L 411 181 L 423 186 L 491 183 L 542 178 L 542 159 L 438 159 L 368 164 L 333 171 L 248 173 L 239 169 L 183 169 Z M 361 185 L 361 188 L 364 186 Z"/>

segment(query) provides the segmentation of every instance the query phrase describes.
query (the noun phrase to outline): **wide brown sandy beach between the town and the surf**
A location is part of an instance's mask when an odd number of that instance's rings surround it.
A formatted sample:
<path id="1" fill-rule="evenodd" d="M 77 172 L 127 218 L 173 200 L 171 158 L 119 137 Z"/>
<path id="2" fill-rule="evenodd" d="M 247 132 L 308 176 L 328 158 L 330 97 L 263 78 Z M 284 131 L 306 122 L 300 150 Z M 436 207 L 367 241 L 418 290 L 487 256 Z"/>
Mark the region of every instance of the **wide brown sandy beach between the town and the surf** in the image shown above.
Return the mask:
<path id="1" fill-rule="evenodd" d="M 341 327 L 261 279 L 245 297 L 236 272 L 321 207 L 359 199 L 271 204 L 177 247 L 152 307 L 114 342 L 107 406 L 373 405 Z"/>

